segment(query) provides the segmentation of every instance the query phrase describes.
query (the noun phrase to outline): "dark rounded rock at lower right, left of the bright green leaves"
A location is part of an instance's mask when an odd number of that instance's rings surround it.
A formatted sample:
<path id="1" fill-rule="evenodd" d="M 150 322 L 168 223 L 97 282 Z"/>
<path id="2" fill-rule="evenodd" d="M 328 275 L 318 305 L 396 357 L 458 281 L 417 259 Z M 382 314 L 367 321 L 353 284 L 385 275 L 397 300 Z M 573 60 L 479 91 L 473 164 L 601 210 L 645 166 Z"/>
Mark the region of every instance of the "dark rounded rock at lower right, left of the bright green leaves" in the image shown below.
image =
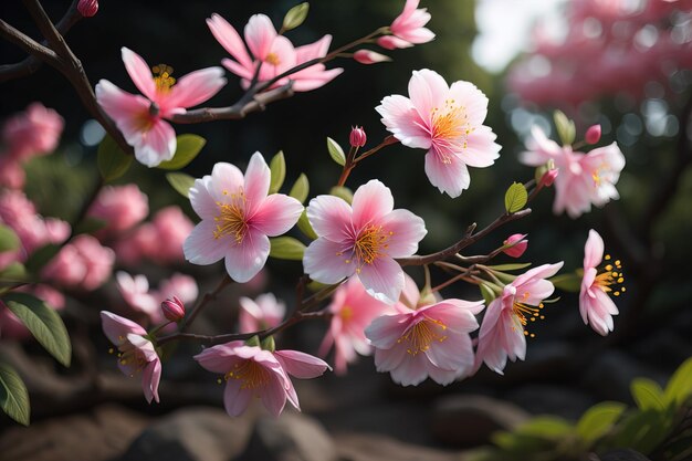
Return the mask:
<path id="1" fill-rule="evenodd" d="M 489 443 L 493 432 L 512 430 L 528 418 L 520 407 L 490 397 L 448 396 L 434 404 L 431 431 L 439 442 L 476 447 Z"/>

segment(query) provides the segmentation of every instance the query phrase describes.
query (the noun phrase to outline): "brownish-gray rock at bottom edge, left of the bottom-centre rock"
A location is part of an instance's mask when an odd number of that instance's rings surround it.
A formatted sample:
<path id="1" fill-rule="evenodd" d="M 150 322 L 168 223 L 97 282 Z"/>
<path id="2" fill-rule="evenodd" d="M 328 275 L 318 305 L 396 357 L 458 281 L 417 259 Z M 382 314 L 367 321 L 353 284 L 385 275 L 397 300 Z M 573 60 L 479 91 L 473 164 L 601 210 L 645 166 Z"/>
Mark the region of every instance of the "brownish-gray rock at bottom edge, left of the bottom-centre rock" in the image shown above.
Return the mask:
<path id="1" fill-rule="evenodd" d="M 147 428 L 120 461 L 228 461 L 248 441 L 253 416 L 231 418 L 216 408 L 186 408 Z"/>

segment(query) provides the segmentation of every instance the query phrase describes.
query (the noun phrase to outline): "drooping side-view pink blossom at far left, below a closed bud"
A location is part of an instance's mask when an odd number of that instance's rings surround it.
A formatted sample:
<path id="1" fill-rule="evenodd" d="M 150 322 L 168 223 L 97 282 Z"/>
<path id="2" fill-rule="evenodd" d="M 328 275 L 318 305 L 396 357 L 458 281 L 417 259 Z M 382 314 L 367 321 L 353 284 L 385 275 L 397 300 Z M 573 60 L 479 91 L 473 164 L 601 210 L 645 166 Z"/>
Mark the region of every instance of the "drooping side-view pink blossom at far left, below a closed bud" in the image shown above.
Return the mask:
<path id="1" fill-rule="evenodd" d="M 118 367 L 133 377 L 141 373 L 141 388 L 149 404 L 158 402 L 158 384 L 161 379 L 161 360 L 154 344 L 146 338 L 147 332 L 133 321 L 107 311 L 101 311 L 103 332 L 117 346 Z"/>

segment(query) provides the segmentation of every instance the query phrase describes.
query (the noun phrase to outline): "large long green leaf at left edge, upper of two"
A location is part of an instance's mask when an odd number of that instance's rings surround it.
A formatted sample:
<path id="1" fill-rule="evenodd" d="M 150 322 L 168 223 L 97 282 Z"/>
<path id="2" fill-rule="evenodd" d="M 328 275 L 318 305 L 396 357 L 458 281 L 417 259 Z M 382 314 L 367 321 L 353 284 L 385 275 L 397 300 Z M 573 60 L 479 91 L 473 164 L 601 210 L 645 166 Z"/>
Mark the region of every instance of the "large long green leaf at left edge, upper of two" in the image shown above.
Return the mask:
<path id="1" fill-rule="evenodd" d="M 57 362 L 70 366 L 72 358 L 70 336 L 65 324 L 54 310 L 27 293 L 9 293 L 2 301 Z"/>

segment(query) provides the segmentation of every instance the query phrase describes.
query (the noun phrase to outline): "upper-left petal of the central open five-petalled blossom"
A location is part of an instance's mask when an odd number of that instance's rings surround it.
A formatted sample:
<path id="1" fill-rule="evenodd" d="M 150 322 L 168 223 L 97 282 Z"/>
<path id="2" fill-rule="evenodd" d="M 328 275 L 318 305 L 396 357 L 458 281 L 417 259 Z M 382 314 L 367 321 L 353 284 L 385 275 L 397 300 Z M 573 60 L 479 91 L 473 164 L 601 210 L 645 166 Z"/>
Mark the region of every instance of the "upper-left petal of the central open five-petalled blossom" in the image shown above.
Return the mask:
<path id="1" fill-rule="evenodd" d="M 310 201 L 306 212 L 317 235 L 332 241 L 350 237 L 353 211 L 344 199 L 334 196 L 315 197 Z"/>

